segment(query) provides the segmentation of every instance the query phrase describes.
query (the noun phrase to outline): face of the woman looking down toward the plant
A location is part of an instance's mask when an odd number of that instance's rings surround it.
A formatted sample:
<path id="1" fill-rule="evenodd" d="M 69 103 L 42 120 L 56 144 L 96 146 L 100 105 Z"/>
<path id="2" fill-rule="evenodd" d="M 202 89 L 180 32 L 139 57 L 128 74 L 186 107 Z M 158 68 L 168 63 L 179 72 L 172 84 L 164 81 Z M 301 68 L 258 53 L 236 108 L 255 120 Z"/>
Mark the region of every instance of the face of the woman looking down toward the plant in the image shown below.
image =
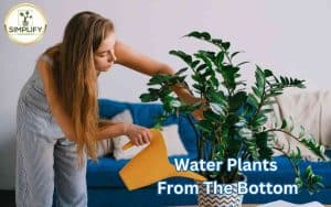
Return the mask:
<path id="1" fill-rule="evenodd" d="M 115 43 L 116 35 L 111 32 L 94 53 L 94 65 L 97 72 L 107 72 L 113 66 L 116 61 Z"/>

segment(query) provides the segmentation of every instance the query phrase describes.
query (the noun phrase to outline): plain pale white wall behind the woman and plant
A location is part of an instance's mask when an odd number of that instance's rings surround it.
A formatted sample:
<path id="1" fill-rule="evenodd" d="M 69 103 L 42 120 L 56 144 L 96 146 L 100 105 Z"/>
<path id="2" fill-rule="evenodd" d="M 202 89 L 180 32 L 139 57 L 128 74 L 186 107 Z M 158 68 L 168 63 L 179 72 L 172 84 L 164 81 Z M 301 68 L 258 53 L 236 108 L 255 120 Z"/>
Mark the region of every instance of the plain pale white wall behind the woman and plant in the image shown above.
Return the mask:
<path id="1" fill-rule="evenodd" d="M 21 1 L 2 0 L 1 20 Z M 64 25 L 76 12 L 92 10 L 111 19 L 120 40 L 136 50 L 172 65 L 172 48 L 191 51 L 193 40 L 180 36 L 207 30 L 244 50 L 242 59 L 307 79 L 309 89 L 330 88 L 331 1 L 329 0 L 99 0 L 31 1 L 40 6 L 49 28 L 43 40 L 30 46 L 10 42 L 0 29 L 0 189 L 14 188 L 15 105 L 20 88 L 34 67 L 36 56 L 61 40 Z M 196 47 L 196 46 L 195 46 Z M 246 75 L 253 75 L 245 69 Z M 252 80 L 252 77 L 248 78 Z M 100 96 L 139 101 L 148 78 L 120 66 L 100 77 Z"/>

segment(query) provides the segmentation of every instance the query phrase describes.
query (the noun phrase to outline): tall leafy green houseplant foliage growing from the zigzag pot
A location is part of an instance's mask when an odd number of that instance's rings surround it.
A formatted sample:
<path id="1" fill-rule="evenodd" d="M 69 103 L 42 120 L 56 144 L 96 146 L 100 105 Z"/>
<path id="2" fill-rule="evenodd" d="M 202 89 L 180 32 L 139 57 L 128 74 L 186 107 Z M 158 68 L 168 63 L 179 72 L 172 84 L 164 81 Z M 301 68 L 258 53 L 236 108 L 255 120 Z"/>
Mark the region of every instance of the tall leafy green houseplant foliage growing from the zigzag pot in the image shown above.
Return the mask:
<path id="1" fill-rule="evenodd" d="M 266 127 L 273 113 L 274 98 L 282 94 L 285 88 L 305 88 L 305 80 L 279 76 L 269 69 L 256 65 L 255 84 L 248 88 L 241 78 L 241 66 L 247 62 L 235 64 L 234 58 L 241 52 L 229 52 L 231 43 L 213 39 L 207 32 L 191 32 L 186 37 L 194 37 L 215 46 L 215 50 L 199 50 L 193 55 L 183 51 L 170 51 L 171 55 L 181 58 L 186 67 L 175 75 L 157 74 L 148 83 L 148 92 L 140 96 L 141 101 L 162 102 L 164 113 L 157 120 L 157 126 L 172 115 L 184 115 L 192 123 L 196 134 L 197 160 L 222 162 L 218 171 L 200 172 L 209 181 L 222 184 L 236 183 L 243 178 L 238 167 L 228 171 L 229 159 L 242 161 L 271 161 L 273 149 L 280 151 L 293 167 L 295 183 L 309 192 L 322 187 L 321 176 L 309 166 L 305 172 L 299 168 L 300 150 L 287 150 L 277 142 L 274 132 L 284 132 L 291 139 L 302 143 L 321 160 L 328 160 L 324 148 L 301 128 L 299 134 L 293 133 L 291 121 L 280 120 L 280 124 Z M 191 83 L 188 84 L 188 72 Z M 171 87 L 181 85 L 203 101 L 188 103 L 181 101 Z M 204 109 L 203 119 L 194 120 L 191 113 Z M 206 196 L 206 195 L 204 195 Z M 235 206 L 241 199 L 235 198 Z"/>

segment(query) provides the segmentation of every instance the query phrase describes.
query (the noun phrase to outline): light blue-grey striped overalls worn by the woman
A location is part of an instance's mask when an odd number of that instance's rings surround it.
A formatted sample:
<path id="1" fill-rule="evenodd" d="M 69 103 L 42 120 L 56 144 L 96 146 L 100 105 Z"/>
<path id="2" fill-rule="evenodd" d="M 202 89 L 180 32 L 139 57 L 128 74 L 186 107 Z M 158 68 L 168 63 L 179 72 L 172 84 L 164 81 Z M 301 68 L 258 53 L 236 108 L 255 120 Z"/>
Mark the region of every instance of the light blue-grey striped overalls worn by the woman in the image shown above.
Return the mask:
<path id="1" fill-rule="evenodd" d="M 67 140 L 52 116 L 35 68 L 17 107 L 18 207 L 87 206 L 86 161 L 78 168 L 76 144 Z"/>

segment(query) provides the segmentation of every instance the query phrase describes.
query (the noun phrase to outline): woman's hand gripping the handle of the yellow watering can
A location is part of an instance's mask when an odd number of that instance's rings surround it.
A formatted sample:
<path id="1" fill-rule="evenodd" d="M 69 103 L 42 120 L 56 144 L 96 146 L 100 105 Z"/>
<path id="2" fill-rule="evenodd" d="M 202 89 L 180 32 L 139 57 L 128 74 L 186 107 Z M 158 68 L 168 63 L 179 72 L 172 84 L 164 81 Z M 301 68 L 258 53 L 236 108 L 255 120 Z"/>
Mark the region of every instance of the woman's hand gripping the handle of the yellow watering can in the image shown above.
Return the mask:
<path id="1" fill-rule="evenodd" d="M 150 143 L 152 135 L 148 128 L 128 124 L 125 133 L 135 145 L 143 145 Z"/>

